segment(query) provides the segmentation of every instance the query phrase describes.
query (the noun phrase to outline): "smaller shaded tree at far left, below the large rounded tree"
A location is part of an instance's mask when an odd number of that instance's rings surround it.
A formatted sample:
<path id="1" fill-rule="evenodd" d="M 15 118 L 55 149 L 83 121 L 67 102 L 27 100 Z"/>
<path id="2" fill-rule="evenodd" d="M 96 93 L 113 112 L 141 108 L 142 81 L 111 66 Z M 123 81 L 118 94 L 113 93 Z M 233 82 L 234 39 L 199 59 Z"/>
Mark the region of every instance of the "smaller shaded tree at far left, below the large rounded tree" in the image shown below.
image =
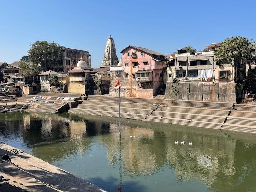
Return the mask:
<path id="1" fill-rule="evenodd" d="M 37 83 L 37 76 L 41 71 L 41 66 L 38 64 L 33 64 L 27 57 L 23 56 L 20 59 L 20 71 L 19 76 L 25 78 L 25 84 Z"/>

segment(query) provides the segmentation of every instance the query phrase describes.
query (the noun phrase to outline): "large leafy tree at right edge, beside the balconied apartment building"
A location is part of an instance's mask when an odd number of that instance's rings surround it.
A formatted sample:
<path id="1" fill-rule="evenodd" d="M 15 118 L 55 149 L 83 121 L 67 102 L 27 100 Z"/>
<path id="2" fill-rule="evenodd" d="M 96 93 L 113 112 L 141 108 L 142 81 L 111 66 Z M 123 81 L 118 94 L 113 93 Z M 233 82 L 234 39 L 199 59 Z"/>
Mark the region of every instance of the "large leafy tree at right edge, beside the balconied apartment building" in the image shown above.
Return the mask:
<path id="1" fill-rule="evenodd" d="M 253 39 L 246 37 L 229 37 L 221 42 L 214 51 L 216 59 L 227 59 L 230 63 L 236 58 L 246 59 L 251 70 L 251 63 L 256 60 L 256 45 Z"/>

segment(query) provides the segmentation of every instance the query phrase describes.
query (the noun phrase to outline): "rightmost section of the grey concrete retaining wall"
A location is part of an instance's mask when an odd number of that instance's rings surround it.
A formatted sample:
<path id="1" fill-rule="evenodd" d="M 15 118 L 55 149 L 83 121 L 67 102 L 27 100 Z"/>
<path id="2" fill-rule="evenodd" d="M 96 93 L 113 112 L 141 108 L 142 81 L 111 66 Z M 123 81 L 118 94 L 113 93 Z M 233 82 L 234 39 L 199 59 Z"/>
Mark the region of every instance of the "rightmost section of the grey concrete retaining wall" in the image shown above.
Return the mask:
<path id="1" fill-rule="evenodd" d="M 218 101 L 236 103 L 236 83 L 220 83 Z"/>

